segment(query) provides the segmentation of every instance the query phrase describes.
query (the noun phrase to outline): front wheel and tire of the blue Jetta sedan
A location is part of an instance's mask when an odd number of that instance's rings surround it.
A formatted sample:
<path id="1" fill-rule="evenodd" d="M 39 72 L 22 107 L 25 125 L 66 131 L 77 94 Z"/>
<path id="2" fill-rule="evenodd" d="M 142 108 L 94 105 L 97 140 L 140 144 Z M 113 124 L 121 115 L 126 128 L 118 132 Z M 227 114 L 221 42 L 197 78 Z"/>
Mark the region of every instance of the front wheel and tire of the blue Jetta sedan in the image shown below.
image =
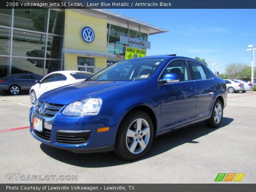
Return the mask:
<path id="1" fill-rule="evenodd" d="M 126 160 L 139 159 L 148 152 L 153 136 L 150 116 L 141 110 L 135 110 L 122 120 L 116 135 L 114 152 Z"/>

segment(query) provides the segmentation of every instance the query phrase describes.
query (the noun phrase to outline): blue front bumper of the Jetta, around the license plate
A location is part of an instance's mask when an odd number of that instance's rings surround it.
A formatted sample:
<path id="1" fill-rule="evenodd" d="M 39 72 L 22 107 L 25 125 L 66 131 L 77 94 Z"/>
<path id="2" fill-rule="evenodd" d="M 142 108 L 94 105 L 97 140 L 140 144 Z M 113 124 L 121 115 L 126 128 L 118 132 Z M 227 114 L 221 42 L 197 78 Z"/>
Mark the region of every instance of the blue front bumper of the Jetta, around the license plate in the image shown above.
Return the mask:
<path id="1" fill-rule="evenodd" d="M 43 132 L 32 128 L 33 116 L 43 119 Z M 34 112 L 32 107 L 30 133 L 44 144 L 75 153 L 112 151 L 121 118 L 121 113 L 76 117 L 64 116 L 61 112 L 48 118 Z M 109 130 L 98 132 L 98 128 L 104 127 L 109 127 Z M 73 140 L 75 142 L 70 142 Z"/>

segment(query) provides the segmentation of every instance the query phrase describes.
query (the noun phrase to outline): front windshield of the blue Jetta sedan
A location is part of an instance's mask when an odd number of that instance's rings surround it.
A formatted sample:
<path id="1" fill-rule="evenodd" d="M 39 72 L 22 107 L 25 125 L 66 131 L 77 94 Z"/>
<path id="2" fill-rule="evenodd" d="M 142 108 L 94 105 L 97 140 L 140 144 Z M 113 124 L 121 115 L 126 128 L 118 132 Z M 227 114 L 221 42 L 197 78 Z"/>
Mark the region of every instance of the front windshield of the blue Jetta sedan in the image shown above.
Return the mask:
<path id="1" fill-rule="evenodd" d="M 135 59 L 112 64 L 98 72 L 92 81 L 134 81 L 150 78 L 164 59 Z"/>

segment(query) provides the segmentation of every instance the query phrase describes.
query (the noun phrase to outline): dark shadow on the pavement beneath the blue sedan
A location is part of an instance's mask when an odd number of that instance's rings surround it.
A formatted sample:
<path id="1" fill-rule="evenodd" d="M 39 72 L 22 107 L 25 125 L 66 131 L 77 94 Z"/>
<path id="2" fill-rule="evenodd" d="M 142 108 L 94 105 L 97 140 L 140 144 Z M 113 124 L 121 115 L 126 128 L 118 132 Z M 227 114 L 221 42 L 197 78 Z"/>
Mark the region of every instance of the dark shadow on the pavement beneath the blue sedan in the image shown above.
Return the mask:
<path id="1" fill-rule="evenodd" d="M 222 124 L 219 128 L 208 128 L 204 122 L 188 126 L 186 128 L 171 132 L 169 134 L 157 137 L 153 140 L 152 146 L 149 152 L 143 158 L 135 161 L 128 161 L 122 158 L 119 158 L 114 154 L 114 152 L 106 153 L 92 153 L 92 154 L 76 154 L 68 150 L 62 150 L 48 146 L 46 144 L 41 144 L 41 150 L 48 156 L 64 162 L 66 164 L 88 167 L 88 168 L 97 168 L 97 167 L 109 167 L 122 164 L 129 164 L 136 161 L 140 161 L 146 158 L 162 154 L 172 148 L 180 146 L 185 143 L 198 143 L 194 141 L 197 138 L 200 138 L 204 135 L 207 135 L 213 131 L 216 131 L 224 126 L 230 124 L 234 119 L 223 117 Z"/>

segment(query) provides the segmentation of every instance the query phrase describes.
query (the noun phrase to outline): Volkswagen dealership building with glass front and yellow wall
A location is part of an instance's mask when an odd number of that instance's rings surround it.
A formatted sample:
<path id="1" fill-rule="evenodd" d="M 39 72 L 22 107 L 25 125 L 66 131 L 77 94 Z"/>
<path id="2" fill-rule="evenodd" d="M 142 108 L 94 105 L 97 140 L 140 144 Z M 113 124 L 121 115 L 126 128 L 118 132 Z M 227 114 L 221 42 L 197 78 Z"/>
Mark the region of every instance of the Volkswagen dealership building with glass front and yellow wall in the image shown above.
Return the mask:
<path id="1" fill-rule="evenodd" d="M 143 57 L 149 36 L 168 32 L 103 9 L 0 9 L 0 77 L 56 70 L 96 73 Z"/>

